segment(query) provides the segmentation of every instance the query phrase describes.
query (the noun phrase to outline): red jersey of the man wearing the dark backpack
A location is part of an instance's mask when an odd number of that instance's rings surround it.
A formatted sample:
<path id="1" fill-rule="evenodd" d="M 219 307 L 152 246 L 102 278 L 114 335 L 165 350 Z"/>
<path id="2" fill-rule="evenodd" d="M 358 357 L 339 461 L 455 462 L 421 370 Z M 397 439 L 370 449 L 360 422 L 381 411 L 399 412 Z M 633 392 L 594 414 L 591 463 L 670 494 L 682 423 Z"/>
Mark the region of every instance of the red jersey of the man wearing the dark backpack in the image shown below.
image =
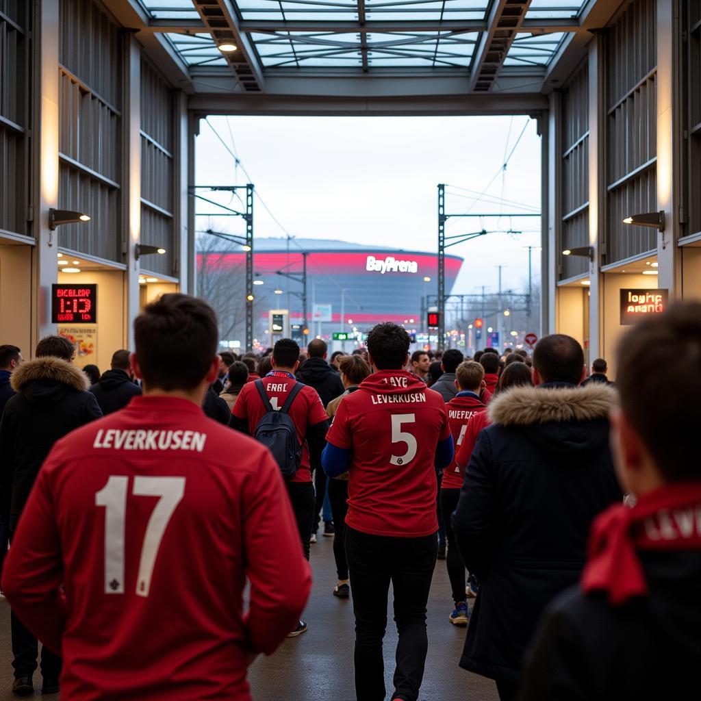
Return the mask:
<path id="1" fill-rule="evenodd" d="M 266 394 L 273 409 L 282 409 L 287 395 L 290 394 L 290 390 L 296 383 L 297 380 L 287 372 L 273 372 L 273 374 L 266 375 L 263 378 Z M 266 409 L 253 383 L 250 382 L 243 386 L 236 404 L 231 409 L 231 413 L 237 418 L 243 418 L 248 421 L 248 432 L 251 435 L 255 433 L 256 426 L 266 414 Z M 297 429 L 297 438 L 302 444 L 302 461 L 299 468 L 297 468 L 297 474 L 287 481 L 311 482 L 309 448 L 304 437 L 308 426 L 314 426 L 315 423 L 326 421 L 329 417 L 326 414 L 324 405 L 321 403 L 318 392 L 308 385 L 301 388 L 297 397 L 294 397 L 290 411 L 287 414 L 292 419 L 294 428 Z"/>

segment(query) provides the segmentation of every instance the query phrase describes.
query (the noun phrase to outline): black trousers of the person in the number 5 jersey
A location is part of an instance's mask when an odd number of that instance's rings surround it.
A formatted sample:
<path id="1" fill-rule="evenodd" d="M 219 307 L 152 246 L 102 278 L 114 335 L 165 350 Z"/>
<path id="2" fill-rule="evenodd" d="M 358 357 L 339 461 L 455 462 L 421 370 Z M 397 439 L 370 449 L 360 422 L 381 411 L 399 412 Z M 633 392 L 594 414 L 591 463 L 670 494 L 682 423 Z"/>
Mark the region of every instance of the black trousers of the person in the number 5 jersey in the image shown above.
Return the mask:
<path id="1" fill-rule="evenodd" d="M 358 701 L 385 698 L 382 640 L 387 596 L 394 590 L 399 632 L 395 691 L 390 698 L 417 701 L 428 652 L 426 603 L 435 568 L 436 534 L 422 538 L 372 536 L 346 526 L 346 554 L 355 613 L 355 695 Z"/>

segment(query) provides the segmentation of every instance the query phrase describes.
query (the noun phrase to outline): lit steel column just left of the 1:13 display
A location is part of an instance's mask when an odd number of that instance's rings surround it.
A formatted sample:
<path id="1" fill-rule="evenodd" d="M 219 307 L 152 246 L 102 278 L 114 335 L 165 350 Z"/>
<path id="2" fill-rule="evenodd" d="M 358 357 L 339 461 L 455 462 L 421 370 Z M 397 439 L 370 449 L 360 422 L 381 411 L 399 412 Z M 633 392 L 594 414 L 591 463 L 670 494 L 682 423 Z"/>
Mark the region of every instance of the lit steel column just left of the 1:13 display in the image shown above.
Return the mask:
<path id="1" fill-rule="evenodd" d="M 57 280 L 58 236 L 48 228 L 48 210 L 58 205 L 59 109 L 59 0 L 34 4 L 34 90 L 36 108 L 33 182 L 34 236 L 32 250 L 32 353 L 39 339 L 55 334 L 51 323 L 50 292 Z"/>

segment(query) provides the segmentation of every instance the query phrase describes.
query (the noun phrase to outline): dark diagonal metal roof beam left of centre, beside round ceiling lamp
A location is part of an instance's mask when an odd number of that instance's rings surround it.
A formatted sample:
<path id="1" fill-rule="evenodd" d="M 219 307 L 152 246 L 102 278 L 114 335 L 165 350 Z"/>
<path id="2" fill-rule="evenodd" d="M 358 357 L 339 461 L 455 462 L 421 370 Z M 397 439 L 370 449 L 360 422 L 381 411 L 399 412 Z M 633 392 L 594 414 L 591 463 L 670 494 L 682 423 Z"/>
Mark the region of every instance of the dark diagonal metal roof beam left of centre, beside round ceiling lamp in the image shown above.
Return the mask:
<path id="1" fill-rule="evenodd" d="M 231 0 L 192 0 L 200 13 L 206 31 L 217 45 L 224 41 L 236 44 L 238 49 L 222 53 L 231 72 L 247 93 L 259 93 L 263 89 L 263 71 L 252 42 L 242 32 L 238 15 Z M 182 31 L 182 30 L 181 30 Z"/>

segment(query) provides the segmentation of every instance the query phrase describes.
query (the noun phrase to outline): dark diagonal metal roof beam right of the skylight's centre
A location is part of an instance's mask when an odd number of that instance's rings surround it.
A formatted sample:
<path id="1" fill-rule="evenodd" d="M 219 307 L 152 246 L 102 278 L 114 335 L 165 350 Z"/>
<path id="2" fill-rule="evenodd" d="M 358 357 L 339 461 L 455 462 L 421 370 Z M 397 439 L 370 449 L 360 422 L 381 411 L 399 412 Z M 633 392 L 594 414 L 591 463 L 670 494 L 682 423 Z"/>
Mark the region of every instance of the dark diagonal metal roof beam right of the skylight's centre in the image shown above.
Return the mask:
<path id="1" fill-rule="evenodd" d="M 489 93 L 526 18 L 531 0 L 492 0 L 487 22 L 470 67 L 470 91 Z M 530 30 L 532 31 L 532 29 Z"/>

